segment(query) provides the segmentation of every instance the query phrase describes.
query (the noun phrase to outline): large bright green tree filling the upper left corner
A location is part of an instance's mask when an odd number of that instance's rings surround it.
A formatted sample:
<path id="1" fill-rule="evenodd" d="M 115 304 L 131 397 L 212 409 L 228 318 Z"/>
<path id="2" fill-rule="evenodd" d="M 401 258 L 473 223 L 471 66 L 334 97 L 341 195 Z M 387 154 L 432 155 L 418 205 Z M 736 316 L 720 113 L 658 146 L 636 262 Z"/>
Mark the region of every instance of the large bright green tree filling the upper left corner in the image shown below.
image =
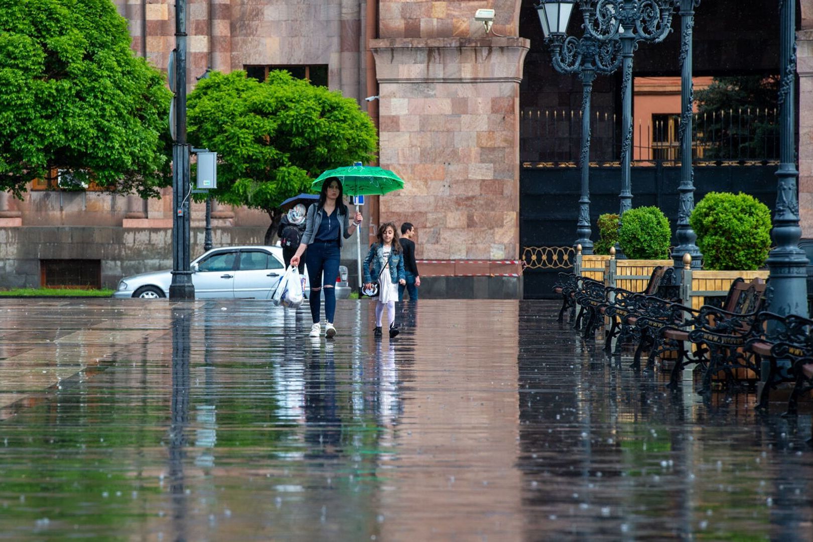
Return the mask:
<path id="1" fill-rule="evenodd" d="M 110 0 L 0 0 L 0 190 L 67 170 L 120 193 L 171 181 L 159 70 Z"/>

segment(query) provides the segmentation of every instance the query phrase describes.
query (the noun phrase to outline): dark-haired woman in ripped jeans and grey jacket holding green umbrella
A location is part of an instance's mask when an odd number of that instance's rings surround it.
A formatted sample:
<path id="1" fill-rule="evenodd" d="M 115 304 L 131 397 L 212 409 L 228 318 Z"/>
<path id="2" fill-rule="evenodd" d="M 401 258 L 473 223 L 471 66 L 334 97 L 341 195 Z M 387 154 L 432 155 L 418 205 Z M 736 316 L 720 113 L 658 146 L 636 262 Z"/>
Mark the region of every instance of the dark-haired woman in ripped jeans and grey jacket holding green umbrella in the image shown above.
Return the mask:
<path id="1" fill-rule="evenodd" d="M 307 210 L 305 234 L 299 243 L 296 254 L 291 258 L 291 265 L 298 265 L 302 252 L 307 249 L 305 264 L 308 278 L 311 280 L 311 293 L 308 303 L 311 304 L 311 337 L 319 337 L 322 331 L 320 321 L 320 293 L 324 287 L 324 318 L 327 324 L 324 336 L 336 335 L 333 316 L 336 313 L 336 276 L 339 273 L 339 256 L 341 246 L 346 238 L 358 229 L 362 216 L 356 212 L 353 221 L 348 218 L 349 211 L 344 201 L 344 189 L 337 177 L 329 177 L 322 183 L 319 203 Z"/>

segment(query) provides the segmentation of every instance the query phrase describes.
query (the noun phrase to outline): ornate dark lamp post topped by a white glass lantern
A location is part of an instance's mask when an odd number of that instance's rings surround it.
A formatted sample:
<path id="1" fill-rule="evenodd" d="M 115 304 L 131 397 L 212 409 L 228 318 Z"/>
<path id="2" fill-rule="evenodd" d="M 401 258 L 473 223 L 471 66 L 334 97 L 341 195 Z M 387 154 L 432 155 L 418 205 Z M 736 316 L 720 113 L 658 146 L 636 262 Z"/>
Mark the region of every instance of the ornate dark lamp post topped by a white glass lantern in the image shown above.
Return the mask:
<path id="1" fill-rule="evenodd" d="M 566 36 L 567 22 L 575 5 L 576 0 L 540 0 L 536 8 L 545 42 L 550 46 L 554 68 L 559 73 L 577 73 L 581 80 L 581 195 L 576 225 L 578 238 L 573 247 L 581 245 L 583 254 L 593 254 L 593 241 L 590 240 L 590 95 L 596 74 L 615 72 L 620 66 L 621 57 L 617 42 L 598 42 L 589 36 L 581 39 Z"/>

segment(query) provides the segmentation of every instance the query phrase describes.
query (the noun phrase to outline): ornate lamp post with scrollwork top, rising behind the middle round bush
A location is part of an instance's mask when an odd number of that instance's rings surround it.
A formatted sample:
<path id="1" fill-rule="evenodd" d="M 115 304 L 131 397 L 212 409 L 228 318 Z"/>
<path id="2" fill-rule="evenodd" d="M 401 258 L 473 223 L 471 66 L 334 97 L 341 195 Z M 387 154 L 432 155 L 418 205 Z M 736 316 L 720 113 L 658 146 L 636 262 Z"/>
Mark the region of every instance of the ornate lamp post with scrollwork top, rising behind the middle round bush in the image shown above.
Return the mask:
<path id="1" fill-rule="evenodd" d="M 621 191 L 619 216 L 633 207 L 631 182 L 633 140 L 633 52 L 639 42 L 658 43 L 672 31 L 672 13 L 679 0 L 580 0 L 585 34 L 598 42 L 621 42 L 624 77 L 621 83 Z M 616 246 L 618 258 L 623 258 Z"/>

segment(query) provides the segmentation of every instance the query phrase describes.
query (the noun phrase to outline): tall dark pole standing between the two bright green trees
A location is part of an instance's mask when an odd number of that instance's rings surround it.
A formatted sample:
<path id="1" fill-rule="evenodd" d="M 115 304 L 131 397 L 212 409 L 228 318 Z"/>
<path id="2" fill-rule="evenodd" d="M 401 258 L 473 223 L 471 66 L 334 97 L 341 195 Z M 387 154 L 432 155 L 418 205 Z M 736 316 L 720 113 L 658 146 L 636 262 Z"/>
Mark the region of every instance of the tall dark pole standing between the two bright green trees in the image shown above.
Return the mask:
<path id="1" fill-rule="evenodd" d="M 189 270 L 189 144 L 186 142 L 186 0 L 175 7 L 175 142 L 172 144 L 172 283 L 171 299 L 193 299 Z"/>

